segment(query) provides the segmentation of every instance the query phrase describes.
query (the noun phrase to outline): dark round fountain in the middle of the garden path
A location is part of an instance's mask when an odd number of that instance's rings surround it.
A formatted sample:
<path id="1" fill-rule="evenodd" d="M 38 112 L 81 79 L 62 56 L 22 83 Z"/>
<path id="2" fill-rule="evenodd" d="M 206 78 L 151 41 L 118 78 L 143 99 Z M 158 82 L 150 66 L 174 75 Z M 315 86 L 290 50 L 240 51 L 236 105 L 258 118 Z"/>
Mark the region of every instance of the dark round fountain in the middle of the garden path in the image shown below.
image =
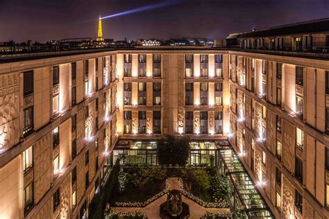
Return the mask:
<path id="1" fill-rule="evenodd" d="M 180 191 L 173 189 L 167 193 L 167 201 L 160 205 L 160 217 L 164 219 L 189 218 L 189 206 L 182 201 Z"/>

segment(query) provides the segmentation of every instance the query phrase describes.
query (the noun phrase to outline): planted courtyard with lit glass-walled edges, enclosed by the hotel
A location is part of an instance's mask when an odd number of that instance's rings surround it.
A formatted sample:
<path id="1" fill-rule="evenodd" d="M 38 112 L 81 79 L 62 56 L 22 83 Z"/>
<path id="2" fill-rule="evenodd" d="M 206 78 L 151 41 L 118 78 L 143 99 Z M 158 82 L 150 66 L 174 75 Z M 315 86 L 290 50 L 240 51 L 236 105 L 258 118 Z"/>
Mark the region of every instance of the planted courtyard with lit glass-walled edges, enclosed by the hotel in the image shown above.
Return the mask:
<path id="1" fill-rule="evenodd" d="M 160 204 L 176 189 L 190 218 L 273 217 L 227 141 L 189 141 L 184 166 L 159 164 L 158 147 L 155 140 L 118 141 L 104 188 L 110 189 L 97 204 L 103 212 L 95 216 L 160 218 Z"/>

